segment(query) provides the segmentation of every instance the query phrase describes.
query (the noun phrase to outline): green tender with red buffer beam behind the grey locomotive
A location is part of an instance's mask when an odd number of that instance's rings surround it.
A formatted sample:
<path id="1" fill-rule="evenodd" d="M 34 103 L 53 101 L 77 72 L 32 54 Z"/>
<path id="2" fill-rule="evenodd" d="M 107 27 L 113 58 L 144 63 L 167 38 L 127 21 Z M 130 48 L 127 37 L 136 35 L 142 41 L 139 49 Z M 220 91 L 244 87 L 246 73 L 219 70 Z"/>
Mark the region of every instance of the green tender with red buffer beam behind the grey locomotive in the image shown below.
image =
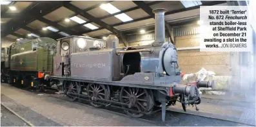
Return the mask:
<path id="1" fill-rule="evenodd" d="M 6 48 L 5 76 L 8 83 L 26 87 L 50 85 L 44 80 L 53 71 L 53 56 L 57 42 L 42 37 L 33 40 L 20 40 Z"/>

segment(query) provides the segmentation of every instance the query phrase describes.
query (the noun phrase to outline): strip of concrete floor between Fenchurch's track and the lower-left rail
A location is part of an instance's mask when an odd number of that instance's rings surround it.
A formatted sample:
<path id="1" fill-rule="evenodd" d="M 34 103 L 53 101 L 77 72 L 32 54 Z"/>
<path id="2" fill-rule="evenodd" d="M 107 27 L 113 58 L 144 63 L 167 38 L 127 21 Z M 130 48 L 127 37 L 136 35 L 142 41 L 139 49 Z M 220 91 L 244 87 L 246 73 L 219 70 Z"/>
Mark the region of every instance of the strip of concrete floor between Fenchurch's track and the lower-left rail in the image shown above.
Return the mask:
<path id="1" fill-rule="evenodd" d="M 54 97 L 55 96 L 55 97 Z M 161 112 L 145 115 L 141 119 L 128 118 L 115 112 L 66 101 L 61 95 L 35 94 L 1 84 L 1 103 L 25 117 L 35 126 L 246 126 L 231 121 L 222 121 L 198 115 L 166 112 L 166 121 L 161 121 Z M 40 119 L 40 121 L 38 120 Z M 10 122 L 12 123 L 15 119 Z M 148 121 L 148 122 L 147 122 Z"/>

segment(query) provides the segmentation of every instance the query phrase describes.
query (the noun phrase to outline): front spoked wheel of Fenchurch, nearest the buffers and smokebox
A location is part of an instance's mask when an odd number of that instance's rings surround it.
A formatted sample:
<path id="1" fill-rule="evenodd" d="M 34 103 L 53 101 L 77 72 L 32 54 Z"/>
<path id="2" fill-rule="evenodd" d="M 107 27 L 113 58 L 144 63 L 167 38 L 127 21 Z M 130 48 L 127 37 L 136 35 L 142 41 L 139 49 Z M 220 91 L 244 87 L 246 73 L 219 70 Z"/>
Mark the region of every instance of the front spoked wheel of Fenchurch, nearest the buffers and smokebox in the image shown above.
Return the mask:
<path id="1" fill-rule="evenodd" d="M 140 112 L 148 112 L 150 101 L 149 95 L 146 89 L 132 88 L 132 87 L 122 87 L 120 92 L 121 103 L 126 103 L 129 106 L 122 106 L 123 108 L 130 108 L 132 110 L 137 110 Z M 132 112 L 124 110 L 127 115 L 131 117 L 142 117 L 143 113 Z"/>

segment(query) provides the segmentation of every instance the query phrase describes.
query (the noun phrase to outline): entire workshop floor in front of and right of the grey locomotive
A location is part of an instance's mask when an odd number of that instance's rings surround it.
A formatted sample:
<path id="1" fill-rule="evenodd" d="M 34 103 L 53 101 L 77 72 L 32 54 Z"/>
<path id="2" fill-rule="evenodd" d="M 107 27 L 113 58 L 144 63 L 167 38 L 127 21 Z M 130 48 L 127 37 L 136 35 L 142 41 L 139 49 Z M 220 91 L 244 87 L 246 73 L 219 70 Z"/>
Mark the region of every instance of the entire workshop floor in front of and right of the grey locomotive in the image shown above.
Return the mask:
<path id="1" fill-rule="evenodd" d="M 230 102 L 218 99 L 202 98 L 200 110 L 195 111 L 195 108 L 190 106 L 186 114 L 177 103 L 168 108 L 173 112 L 166 112 L 166 122 L 162 123 L 161 112 L 146 115 L 141 119 L 133 119 L 103 108 L 65 101 L 59 99 L 59 96 L 63 97 L 55 94 L 35 94 L 1 83 L 1 103 L 35 126 L 246 126 L 253 124 L 251 122 L 253 116 L 255 119 L 255 110 L 253 112 L 250 107 L 236 103 L 230 106 Z M 240 122 L 244 124 L 236 123 L 235 119 L 237 121 L 245 119 Z M 5 121 L 6 119 L 3 121 L 1 119 L 1 123 L 6 123 L 6 126 L 23 126 L 23 123 L 12 124 L 16 121 L 15 118 L 12 121 L 10 119 Z"/>

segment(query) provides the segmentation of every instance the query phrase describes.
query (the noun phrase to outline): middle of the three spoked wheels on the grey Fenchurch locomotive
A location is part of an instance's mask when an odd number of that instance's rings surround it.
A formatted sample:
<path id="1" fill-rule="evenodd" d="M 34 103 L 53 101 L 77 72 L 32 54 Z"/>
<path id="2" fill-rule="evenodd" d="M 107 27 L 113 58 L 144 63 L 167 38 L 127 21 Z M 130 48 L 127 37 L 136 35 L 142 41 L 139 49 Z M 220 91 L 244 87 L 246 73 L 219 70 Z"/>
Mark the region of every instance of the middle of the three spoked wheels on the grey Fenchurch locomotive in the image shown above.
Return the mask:
<path id="1" fill-rule="evenodd" d="M 87 93 L 89 96 L 89 99 L 92 99 L 93 101 L 97 101 L 97 99 L 108 99 L 108 89 L 102 84 L 95 84 L 90 83 L 87 88 Z M 102 104 L 90 102 L 92 106 L 95 106 L 96 108 L 100 108 L 103 106 Z"/>

